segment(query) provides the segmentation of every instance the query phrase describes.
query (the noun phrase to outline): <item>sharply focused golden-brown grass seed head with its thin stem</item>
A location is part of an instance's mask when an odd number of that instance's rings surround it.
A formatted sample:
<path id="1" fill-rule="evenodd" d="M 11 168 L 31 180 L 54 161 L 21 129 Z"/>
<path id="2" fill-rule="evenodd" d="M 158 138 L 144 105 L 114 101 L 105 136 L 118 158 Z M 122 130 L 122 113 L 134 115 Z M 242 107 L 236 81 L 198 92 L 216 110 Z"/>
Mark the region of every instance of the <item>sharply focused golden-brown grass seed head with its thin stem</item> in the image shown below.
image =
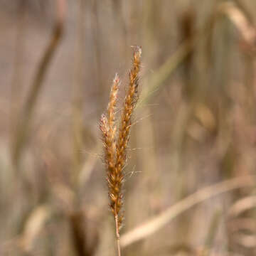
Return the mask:
<path id="1" fill-rule="evenodd" d="M 115 75 L 110 92 L 110 102 L 107 114 L 102 114 L 100 129 L 105 146 L 105 164 L 107 169 L 107 186 L 110 198 L 110 209 L 114 215 L 117 235 L 117 251 L 121 255 L 119 245 L 119 230 L 123 222 L 123 195 L 122 184 L 124 182 L 124 165 L 127 161 L 127 144 L 132 124 L 132 113 L 138 100 L 138 75 L 140 70 L 140 58 L 142 49 L 136 47 L 134 50 L 132 70 L 129 73 L 129 87 L 124 98 L 122 114 L 119 124 L 119 133 L 116 135 L 115 110 L 117 105 L 117 93 L 119 89 L 119 76 Z"/>

